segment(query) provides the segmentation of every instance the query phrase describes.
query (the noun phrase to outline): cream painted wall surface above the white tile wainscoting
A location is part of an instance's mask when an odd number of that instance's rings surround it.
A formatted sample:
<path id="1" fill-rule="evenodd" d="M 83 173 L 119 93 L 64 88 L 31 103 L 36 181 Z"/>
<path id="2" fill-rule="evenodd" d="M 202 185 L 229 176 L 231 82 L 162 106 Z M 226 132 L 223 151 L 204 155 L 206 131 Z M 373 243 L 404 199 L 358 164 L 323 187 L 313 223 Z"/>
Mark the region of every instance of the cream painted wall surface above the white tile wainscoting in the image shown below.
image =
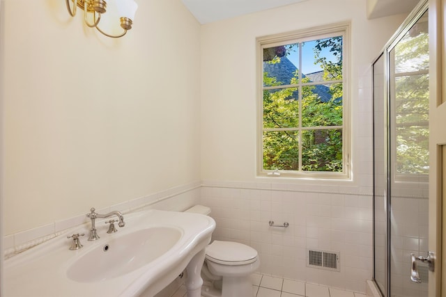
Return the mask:
<path id="1" fill-rule="evenodd" d="M 138 4 L 115 40 L 64 1 L 2 1 L 3 235 L 199 179 L 257 180 L 261 35 L 352 21 L 357 160 L 357 77 L 404 16 L 367 21 L 365 1 L 313 0 L 200 26 L 180 0 Z"/>

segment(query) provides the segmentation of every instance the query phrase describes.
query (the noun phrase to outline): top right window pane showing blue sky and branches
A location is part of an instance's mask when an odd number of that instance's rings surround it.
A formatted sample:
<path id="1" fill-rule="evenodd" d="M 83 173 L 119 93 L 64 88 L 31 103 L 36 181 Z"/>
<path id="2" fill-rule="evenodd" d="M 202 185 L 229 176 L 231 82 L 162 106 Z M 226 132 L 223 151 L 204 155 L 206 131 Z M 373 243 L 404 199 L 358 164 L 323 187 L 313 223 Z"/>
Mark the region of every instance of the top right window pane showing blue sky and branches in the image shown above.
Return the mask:
<path id="1" fill-rule="evenodd" d="M 342 79 L 342 36 L 302 42 L 302 82 Z"/>

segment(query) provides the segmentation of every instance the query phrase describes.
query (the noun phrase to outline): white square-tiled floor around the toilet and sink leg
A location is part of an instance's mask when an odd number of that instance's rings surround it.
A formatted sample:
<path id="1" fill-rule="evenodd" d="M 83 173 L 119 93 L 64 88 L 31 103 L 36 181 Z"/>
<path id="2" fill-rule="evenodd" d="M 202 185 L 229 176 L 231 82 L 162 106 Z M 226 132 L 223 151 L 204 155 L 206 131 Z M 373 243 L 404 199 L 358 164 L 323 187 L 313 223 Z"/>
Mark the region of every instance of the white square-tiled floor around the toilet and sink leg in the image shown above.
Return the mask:
<path id="1" fill-rule="evenodd" d="M 252 275 L 254 297 L 366 297 L 364 294 L 353 293 L 330 287 L 307 284 L 295 280 L 274 278 L 268 275 Z M 185 297 L 184 284 L 171 297 Z M 234 296 L 245 297 L 245 296 Z"/>

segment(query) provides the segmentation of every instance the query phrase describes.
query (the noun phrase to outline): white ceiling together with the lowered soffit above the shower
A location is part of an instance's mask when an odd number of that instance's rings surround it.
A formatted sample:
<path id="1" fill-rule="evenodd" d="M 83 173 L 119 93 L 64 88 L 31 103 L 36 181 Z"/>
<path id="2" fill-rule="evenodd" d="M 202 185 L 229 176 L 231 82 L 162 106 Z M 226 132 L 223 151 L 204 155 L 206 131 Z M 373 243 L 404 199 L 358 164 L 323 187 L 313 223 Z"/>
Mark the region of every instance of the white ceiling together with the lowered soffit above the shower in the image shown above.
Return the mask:
<path id="1" fill-rule="evenodd" d="M 182 0 L 192 15 L 201 23 L 230 19 L 261 10 L 277 8 L 302 1 L 312 0 Z M 332 0 L 336 1 L 336 0 Z M 367 1 L 367 17 L 385 17 L 409 13 L 419 0 L 357 0 Z"/>

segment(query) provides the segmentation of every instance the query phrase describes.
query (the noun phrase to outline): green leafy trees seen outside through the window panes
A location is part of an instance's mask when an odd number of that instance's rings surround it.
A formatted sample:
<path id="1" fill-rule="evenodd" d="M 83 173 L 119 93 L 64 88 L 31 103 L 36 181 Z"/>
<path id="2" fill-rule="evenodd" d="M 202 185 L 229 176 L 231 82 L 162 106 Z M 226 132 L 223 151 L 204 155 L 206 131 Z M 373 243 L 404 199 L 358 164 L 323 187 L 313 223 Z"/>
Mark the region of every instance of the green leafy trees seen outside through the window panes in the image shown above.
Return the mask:
<path id="1" fill-rule="evenodd" d="M 263 72 L 264 170 L 343 170 L 342 37 L 304 42 L 300 47 L 306 45 L 314 45 L 314 64 L 321 67 L 318 83 L 305 74 L 299 79 L 297 69 L 289 81 L 280 81 L 280 74 Z M 293 45 L 265 49 L 263 61 L 281 63 L 291 49 Z M 323 54 L 327 50 L 331 58 Z M 329 98 L 322 99 L 321 91 Z"/>

